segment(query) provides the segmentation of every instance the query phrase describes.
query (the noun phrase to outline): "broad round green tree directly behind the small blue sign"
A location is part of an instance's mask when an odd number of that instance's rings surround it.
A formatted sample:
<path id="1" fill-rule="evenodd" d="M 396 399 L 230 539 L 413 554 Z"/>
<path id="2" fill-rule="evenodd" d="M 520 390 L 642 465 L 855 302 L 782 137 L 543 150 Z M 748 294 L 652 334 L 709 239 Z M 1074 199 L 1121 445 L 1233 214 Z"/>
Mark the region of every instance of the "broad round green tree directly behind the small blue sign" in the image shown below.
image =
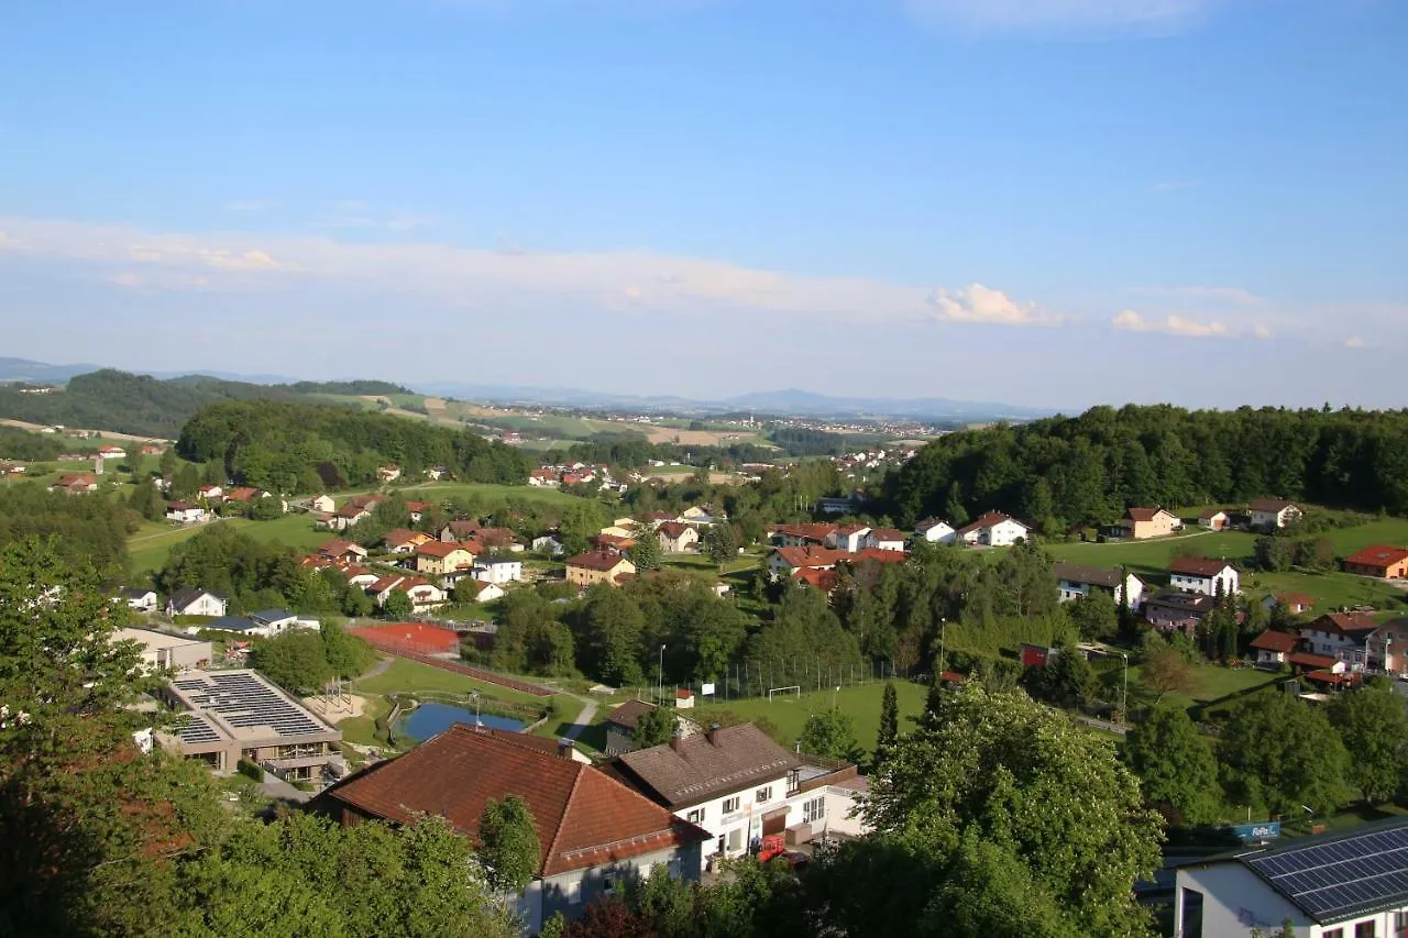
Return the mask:
<path id="1" fill-rule="evenodd" d="M 1343 803 L 1345 746 L 1324 713 L 1290 694 L 1264 692 L 1232 708 L 1217 753 L 1232 804 L 1300 814 Z"/>

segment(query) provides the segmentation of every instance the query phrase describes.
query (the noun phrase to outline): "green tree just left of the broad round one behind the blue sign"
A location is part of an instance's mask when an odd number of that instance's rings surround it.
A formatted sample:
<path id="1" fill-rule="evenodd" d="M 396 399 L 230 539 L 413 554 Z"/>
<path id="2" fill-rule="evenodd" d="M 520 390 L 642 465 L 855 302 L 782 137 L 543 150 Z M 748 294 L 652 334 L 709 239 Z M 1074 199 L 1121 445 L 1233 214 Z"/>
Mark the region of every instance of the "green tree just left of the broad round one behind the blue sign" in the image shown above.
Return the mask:
<path id="1" fill-rule="evenodd" d="M 1170 824 L 1211 824 L 1218 817 L 1218 765 L 1212 745 L 1188 711 L 1162 703 L 1125 737 L 1125 762 L 1139 776 L 1145 801 Z"/>

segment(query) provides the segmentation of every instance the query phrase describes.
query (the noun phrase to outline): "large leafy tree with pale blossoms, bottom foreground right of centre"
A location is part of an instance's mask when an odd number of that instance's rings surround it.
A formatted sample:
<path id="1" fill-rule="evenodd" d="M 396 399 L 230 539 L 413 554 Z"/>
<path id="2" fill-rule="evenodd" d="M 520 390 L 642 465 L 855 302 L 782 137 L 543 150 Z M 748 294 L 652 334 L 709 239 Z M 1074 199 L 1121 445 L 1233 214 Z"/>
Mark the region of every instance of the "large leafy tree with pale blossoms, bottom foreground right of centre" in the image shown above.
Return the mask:
<path id="1" fill-rule="evenodd" d="M 870 776 L 863 811 L 874 835 L 828 870 L 822 914 L 842 934 L 1150 934 L 1132 884 L 1159 866 L 1159 817 L 1108 741 L 1025 694 L 943 693 Z M 973 918 L 949 930 L 952 914 Z"/>

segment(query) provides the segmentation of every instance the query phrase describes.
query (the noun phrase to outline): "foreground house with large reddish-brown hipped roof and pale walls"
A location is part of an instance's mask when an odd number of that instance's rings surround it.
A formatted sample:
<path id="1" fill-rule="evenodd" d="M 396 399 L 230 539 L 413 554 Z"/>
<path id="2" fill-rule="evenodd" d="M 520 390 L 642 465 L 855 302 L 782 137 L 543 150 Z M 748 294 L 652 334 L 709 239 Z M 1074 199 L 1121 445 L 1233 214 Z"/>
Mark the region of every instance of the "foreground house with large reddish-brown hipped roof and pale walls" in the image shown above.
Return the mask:
<path id="1" fill-rule="evenodd" d="M 344 825 L 414 824 L 421 814 L 438 814 L 473 841 L 490 799 L 521 797 L 541 848 L 534 879 L 517 903 L 528 935 L 555 913 L 576 918 L 624 877 L 660 868 L 697 880 L 708 834 L 583 765 L 573 748 L 456 724 L 328 789 L 320 804 Z"/>

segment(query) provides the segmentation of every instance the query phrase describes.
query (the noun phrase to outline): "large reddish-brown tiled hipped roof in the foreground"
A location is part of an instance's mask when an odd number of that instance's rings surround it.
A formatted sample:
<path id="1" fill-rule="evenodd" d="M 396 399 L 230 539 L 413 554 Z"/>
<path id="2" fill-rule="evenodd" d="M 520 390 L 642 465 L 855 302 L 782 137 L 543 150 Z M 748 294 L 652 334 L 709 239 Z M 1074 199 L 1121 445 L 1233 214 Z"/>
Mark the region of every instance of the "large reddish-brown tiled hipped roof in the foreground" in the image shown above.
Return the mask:
<path id="1" fill-rule="evenodd" d="M 710 838 L 600 769 L 549 753 L 518 734 L 466 724 L 352 776 L 325 797 L 398 824 L 420 813 L 439 814 L 476 838 L 489 799 L 510 794 L 532 811 L 542 845 L 539 877 Z"/>

